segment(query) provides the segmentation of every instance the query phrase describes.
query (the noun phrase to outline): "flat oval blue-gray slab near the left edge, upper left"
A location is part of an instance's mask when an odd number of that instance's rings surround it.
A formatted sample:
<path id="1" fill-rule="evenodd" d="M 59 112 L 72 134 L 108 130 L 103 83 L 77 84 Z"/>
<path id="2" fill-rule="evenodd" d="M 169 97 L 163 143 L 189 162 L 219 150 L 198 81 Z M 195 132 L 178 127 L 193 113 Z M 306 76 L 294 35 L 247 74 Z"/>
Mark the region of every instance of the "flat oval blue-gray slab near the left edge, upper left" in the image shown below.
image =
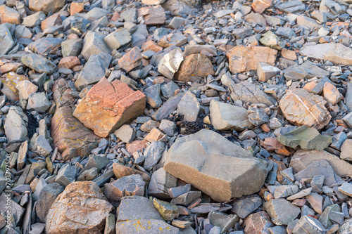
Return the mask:
<path id="1" fill-rule="evenodd" d="M 46 74 L 52 74 L 57 69 L 53 62 L 35 53 L 25 54 L 22 56 L 21 62 L 27 67 L 30 67 L 32 70 L 39 73 L 44 72 Z"/>

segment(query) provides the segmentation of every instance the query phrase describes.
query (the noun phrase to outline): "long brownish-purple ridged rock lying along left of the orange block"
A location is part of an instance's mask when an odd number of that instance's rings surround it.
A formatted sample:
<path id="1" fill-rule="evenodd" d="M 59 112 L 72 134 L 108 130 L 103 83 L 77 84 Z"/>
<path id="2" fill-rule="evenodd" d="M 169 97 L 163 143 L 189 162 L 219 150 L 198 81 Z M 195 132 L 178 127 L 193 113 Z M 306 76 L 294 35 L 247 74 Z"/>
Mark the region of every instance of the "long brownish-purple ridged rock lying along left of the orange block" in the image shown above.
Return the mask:
<path id="1" fill-rule="evenodd" d="M 61 152 L 63 160 L 89 155 L 98 146 L 99 137 L 73 117 L 75 98 L 70 96 L 71 89 L 65 79 L 58 79 L 53 92 L 56 111 L 51 119 L 50 133 L 54 146 Z"/>

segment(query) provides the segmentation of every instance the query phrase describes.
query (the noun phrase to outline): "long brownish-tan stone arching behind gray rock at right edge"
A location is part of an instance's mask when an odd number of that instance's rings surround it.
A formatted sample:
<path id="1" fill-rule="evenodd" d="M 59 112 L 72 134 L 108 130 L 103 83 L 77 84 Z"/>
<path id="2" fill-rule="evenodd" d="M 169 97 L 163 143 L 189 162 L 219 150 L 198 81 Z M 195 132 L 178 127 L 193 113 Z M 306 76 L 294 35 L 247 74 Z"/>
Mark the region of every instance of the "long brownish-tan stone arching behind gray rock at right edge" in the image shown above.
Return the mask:
<path id="1" fill-rule="evenodd" d="M 308 167 L 311 163 L 318 162 L 320 160 L 326 160 L 329 162 L 337 175 L 341 177 L 352 176 L 351 164 L 344 160 L 340 160 L 339 157 L 326 151 L 297 150 L 294 157 L 291 159 L 290 167 L 292 167 L 297 173 L 298 171 L 306 169 L 306 167 Z"/>

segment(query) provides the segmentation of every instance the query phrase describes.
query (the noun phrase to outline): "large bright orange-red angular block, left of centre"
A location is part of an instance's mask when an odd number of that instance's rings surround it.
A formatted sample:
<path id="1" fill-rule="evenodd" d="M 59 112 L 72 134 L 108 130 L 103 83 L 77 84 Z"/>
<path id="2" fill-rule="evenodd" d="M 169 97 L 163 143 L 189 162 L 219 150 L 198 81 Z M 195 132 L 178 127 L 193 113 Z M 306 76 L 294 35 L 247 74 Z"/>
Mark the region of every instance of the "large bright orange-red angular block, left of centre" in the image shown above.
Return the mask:
<path id="1" fill-rule="evenodd" d="M 123 124 L 144 113 L 146 96 L 133 91 L 127 84 L 103 77 L 77 105 L 73 116 L 105 138 Z"/>

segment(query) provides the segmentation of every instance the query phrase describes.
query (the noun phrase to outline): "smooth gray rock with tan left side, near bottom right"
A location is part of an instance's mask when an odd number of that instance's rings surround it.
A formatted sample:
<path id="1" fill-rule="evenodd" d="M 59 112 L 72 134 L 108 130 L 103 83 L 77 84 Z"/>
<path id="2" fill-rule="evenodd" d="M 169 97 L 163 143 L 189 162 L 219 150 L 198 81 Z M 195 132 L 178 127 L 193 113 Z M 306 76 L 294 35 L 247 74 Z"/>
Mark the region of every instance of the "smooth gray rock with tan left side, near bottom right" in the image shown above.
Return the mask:
<path id="1" fill-rule="evenodd" d="M 263 208 L 276 225 L 287 225 L 301 213 L 301 209 L 283 198 L 265 202 Z"/>

